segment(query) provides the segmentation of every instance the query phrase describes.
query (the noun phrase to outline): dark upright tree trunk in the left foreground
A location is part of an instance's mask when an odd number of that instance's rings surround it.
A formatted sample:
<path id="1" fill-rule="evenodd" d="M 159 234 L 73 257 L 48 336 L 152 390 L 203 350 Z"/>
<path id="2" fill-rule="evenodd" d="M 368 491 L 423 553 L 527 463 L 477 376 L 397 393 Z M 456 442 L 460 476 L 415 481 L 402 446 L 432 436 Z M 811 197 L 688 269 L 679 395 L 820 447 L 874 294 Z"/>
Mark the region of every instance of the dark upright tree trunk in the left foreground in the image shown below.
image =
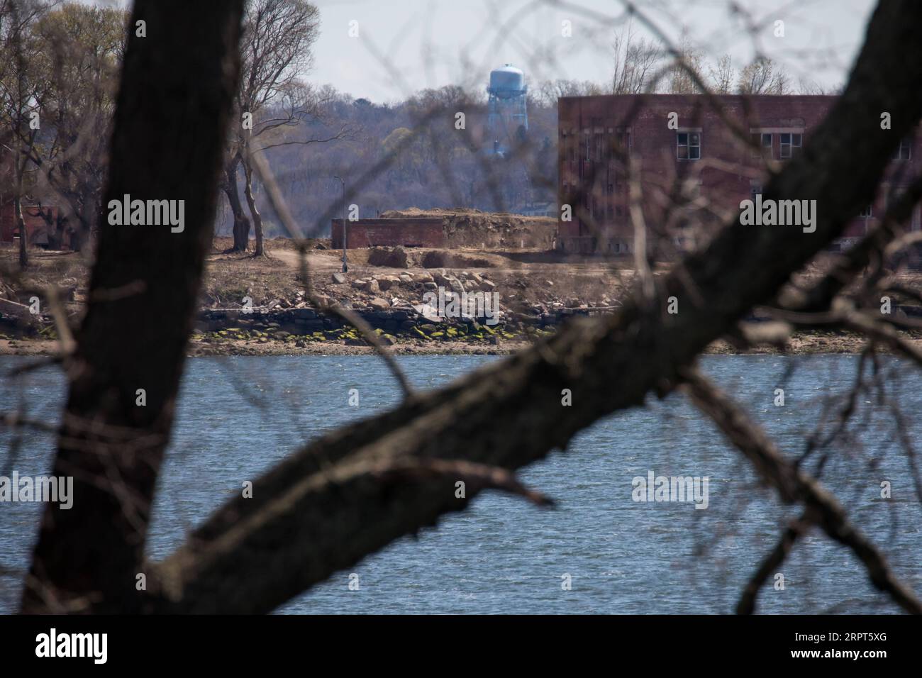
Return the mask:
<path id="1" fill-rule="evenodd" d="M 128 25 L 145 20 L 147 37 L 130 31 L 102 209 L 125 194 L 184 200 L 184 228 L 100 219 L 53 470 L 74 477 L 73 506 L 46 506 L 25 612 L 143 610 L 136 576 L 211 244 L 242 11 L 243 0 L 136 0 Z M 141 291 L 98 293 L 126 286 Z"/>

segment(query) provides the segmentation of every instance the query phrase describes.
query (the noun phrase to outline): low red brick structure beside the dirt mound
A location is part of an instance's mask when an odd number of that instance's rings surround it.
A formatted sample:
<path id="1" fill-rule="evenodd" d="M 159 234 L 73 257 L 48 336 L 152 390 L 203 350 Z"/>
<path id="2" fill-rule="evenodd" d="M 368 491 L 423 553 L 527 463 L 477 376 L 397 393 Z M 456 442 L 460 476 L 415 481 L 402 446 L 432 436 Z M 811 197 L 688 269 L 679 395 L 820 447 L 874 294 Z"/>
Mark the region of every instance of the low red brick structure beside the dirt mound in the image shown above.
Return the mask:
<path id="1" fill-rule="evenodd" d="M 333 248 L 343 246 L 342 220 L 334 219 Z M 444 247 L 443 220 L 432 217 L 347 220 L 347 249 L 365 247 Z"/>

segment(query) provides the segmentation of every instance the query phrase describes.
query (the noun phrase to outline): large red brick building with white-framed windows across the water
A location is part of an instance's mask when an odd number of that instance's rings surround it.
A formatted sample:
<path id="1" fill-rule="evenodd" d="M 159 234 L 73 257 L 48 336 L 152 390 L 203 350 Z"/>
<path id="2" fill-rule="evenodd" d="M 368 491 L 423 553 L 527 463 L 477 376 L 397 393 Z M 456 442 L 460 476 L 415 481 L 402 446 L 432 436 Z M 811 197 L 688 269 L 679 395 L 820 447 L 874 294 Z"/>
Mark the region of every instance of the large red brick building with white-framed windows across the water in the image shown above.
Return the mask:
<path id="1" fill-rule="evenodd" d="M 747 145 L 721 114 L 698 95 L 609 95 L 562 97 L 558 101 L 559 196 L 572 206 L 572 220 L 558 217 L 558 248 L 577 253 L 629 253 L 629 215 L 624 158 L 639 165 L 644 216 L 648 224 L 666 220 L 677 180 L 691 199 L 701 196 L 726 210 L 762 193 L 768 162 L 796 156 L 833 106 L 833 96 L 718 96 L 720 113 L 750 136 Z M 670 113 L 676 121 L 668 125 Z M 758 146 L 759 149 L 753 148 Z M 843 241 L 863 235 L 869 221 L 886 208 L 888 185 L 917 173 L 919 138 L 905 139 L 894 153 L 881 196 L 847 227 Z M 690 196 L 686 194 L 685 199 Z M 589 216 L 591 215 L 591 219 Z M 716 217 L 712 218 L 717 221 Z M 595 226 L 594 226 L 595 224 Z M 920 228 L 919 208 L 912 218 Z M 676 238 L 679 246 L 689 244 Z"/>

